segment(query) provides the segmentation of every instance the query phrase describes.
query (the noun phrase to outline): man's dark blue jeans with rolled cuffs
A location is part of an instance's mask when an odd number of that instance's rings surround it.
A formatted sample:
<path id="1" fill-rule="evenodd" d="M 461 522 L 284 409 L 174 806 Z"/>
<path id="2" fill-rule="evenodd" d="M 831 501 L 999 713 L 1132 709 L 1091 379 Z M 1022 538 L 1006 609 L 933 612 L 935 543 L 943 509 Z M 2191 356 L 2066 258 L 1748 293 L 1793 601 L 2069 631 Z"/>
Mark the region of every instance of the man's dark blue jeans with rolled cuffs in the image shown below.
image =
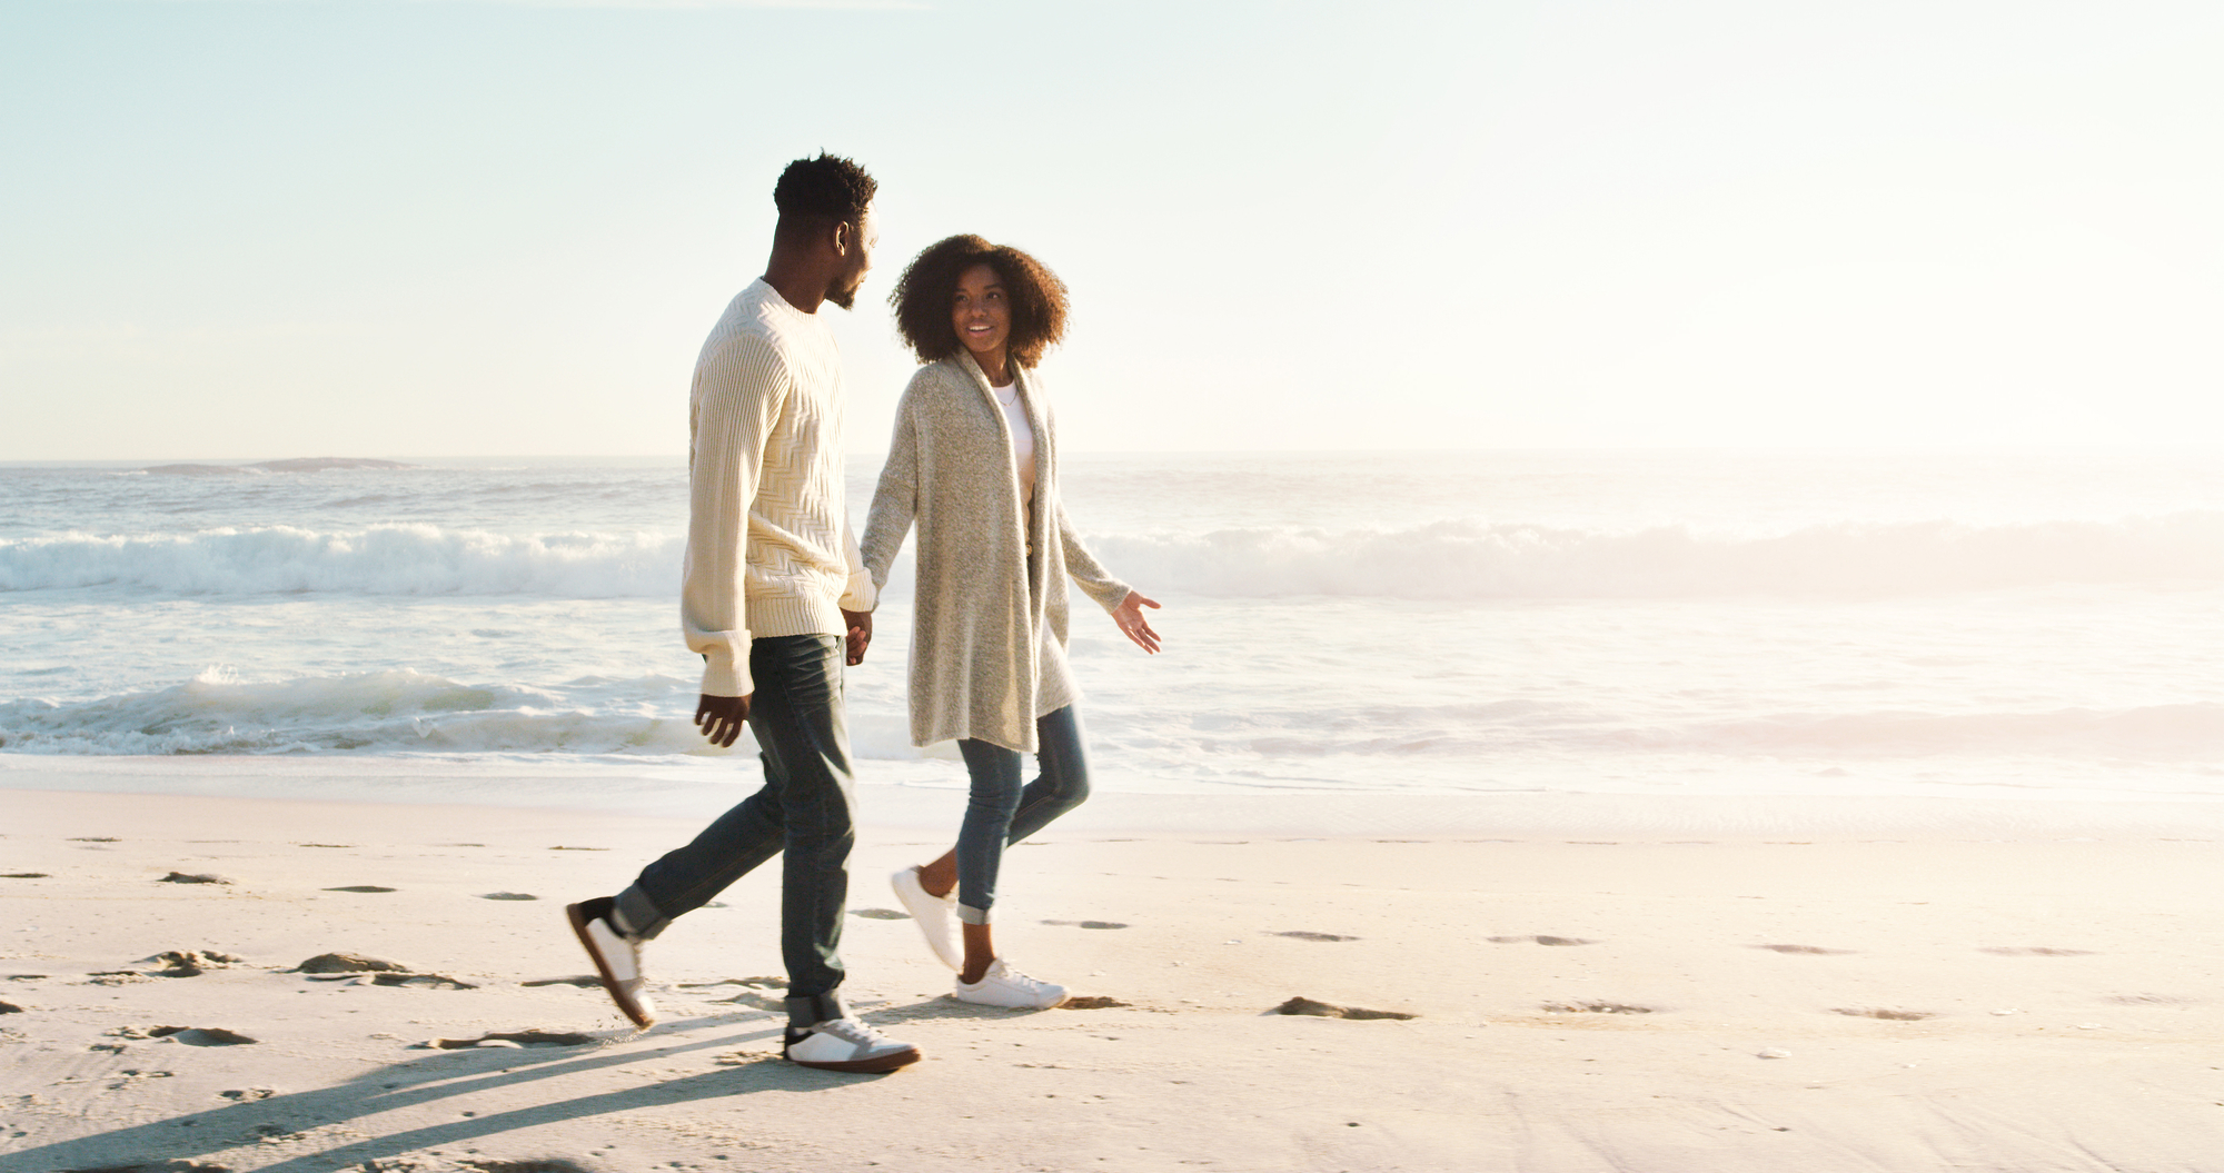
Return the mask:
<path id="1" fill-rule="evenodd" d="M 781 869 L 781 955 L 787 1020 L 810 1026 L 845 1017 L 841 918 L 850 895 L 856 795 L 843 729 L 843 638 L 772 635 L 749 642 L 749 733 L 763 751 L 765 786 L 712 822 L 692 844 L 641 869 L 618 893 L 618 915 L 641 938 L 707 904 L 756 864 Z"/>

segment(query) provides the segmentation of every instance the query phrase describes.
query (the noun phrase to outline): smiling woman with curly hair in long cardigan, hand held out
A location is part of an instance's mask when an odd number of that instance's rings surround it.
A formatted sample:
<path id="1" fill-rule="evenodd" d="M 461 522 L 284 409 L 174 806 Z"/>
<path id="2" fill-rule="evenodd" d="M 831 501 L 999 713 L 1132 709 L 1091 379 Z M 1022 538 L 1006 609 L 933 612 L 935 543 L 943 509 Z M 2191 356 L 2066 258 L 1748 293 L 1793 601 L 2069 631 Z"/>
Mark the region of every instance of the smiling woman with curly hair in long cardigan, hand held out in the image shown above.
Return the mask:
<path id="1" fill-rule="evenodd" d="M 954 738 L 972 775 L 956 846 L 898 871 L 896 898 L 959 971 L 959 1000 L 1056 1006 L 1063 986 L 996 955 L 990 909 L 1005 844 L 1090 791 L 1065 669 L 1065 578 L 1145 653 L 1159 651 L 1159 633 L 1143 609 L 1159 604 L 1090 555 L 1059 502 L 1056 427 L 1032 367 L 1065 333 L 1065 284 L 1019 249 L 952 235 L 912 260 L 890 302 L 925 367 L 896 404 L 865 569 L 885 584 L 919 524 L 912 744 Z M 1025 789 L 1021 753 L 1041 766 Z"/>

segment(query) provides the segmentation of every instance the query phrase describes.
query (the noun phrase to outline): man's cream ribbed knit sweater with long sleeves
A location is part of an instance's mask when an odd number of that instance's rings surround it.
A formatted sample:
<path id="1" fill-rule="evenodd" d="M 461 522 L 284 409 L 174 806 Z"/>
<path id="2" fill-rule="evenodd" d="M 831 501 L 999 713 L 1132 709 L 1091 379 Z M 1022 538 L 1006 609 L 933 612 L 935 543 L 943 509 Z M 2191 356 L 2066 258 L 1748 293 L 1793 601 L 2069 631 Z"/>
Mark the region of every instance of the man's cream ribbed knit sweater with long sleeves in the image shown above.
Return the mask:
<path id="1" fill-rule="evenodd" d="M 841 635 L 874 586 L 843 500 L 834 335 L 749 282 L 703 342 L 689 398 L 681 629 L 707 695 L 749 695 L 749 640 Z"/>

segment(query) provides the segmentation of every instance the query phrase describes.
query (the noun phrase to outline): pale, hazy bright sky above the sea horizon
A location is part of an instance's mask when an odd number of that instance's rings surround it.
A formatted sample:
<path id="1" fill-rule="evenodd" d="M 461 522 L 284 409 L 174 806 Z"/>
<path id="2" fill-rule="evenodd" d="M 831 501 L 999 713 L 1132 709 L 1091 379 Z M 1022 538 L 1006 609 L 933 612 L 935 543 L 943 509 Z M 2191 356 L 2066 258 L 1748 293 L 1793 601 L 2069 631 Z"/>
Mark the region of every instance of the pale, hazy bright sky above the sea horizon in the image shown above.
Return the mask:
<path id="1" fill-rule="evenodd" d="M 2224 442 L 2224 11 L 9 0 L 0 460 L 681 453 L 770 187 L 979 231 L 1072 449 Z"/>

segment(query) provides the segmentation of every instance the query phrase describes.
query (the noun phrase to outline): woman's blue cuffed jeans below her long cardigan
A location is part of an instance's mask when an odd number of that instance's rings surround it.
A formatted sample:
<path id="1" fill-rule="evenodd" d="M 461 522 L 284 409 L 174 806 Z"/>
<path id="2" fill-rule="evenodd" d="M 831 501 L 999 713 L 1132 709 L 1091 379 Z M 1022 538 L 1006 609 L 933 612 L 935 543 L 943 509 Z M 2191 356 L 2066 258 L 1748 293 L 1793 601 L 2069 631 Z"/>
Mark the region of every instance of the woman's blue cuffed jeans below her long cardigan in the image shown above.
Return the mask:
<path id="1" fill-rule="evenodd" d="M 959 920 L 965 924 L 987 924 L 1003 849 L 1090 798 L 1090 762 L 1081 749 L 1081 715 L 1074 706 L 1034 718 L 1034 742 L 1043 775 L 1025 789 L 1019 786 L 1016 749 L 972 738 L 959 742 L 972 773 L 972 798 L 959 829 Z"/>

